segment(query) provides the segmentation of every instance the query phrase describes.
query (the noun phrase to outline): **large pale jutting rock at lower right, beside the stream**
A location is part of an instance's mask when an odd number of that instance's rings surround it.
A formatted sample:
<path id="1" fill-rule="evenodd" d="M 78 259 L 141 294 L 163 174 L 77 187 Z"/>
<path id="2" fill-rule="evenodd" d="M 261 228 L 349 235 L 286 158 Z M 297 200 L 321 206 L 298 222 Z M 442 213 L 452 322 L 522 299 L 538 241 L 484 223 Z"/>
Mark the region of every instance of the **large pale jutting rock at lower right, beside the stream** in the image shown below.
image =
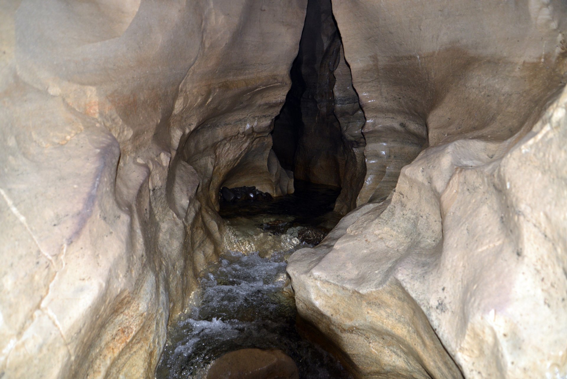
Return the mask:
<path id="1" fill-rule="evenodd" d="M 299 312 L 359 376 L 459 377 L 451 358 L 466 378 L 567 376 L 566 108 L 564 90 L 521 140 L 426 149 L 391 204 L 290 257 Z"/>

